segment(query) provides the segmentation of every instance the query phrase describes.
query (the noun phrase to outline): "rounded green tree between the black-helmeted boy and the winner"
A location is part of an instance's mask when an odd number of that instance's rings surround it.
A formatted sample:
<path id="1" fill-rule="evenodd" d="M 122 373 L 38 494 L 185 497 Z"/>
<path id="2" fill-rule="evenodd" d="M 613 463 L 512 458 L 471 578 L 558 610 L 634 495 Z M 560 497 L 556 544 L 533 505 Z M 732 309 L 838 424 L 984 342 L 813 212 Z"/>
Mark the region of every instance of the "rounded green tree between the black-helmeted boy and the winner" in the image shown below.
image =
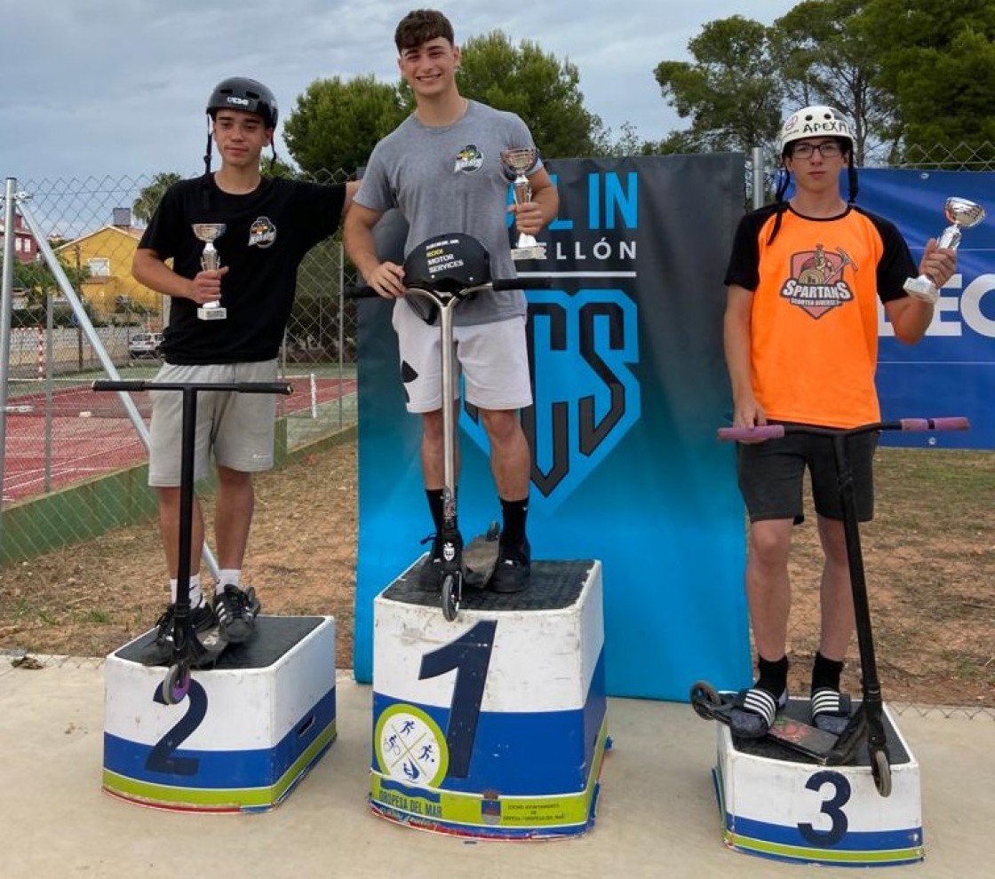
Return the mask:
<path id="1" fill-rule="evenodd" d="M 307 174 L 340 168 L 352 173 L 406 114 L 400 88 L 372 76 L 315 80 L 288 113 L 284 140 Z"/>

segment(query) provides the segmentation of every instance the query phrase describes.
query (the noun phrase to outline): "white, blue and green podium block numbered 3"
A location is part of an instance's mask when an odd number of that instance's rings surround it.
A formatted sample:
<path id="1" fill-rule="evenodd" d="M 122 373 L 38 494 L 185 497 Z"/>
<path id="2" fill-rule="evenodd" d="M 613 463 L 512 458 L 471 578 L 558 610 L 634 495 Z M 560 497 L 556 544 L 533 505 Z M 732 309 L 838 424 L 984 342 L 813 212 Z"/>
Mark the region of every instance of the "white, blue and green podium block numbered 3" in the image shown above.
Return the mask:
<path id="1" fill-rule="evenodd" d="M 808 701 L 788 717 L 805 721 Z M 712 771 L 722 838 L 737 851 L 840 867 L 890 866 L 923 858 L 919 767 L 885 707 L 892 791 L 875 786 L 867 748 L 852 766 L 818 766 L 768 739 L 734 738 L 716 723 Z"/>

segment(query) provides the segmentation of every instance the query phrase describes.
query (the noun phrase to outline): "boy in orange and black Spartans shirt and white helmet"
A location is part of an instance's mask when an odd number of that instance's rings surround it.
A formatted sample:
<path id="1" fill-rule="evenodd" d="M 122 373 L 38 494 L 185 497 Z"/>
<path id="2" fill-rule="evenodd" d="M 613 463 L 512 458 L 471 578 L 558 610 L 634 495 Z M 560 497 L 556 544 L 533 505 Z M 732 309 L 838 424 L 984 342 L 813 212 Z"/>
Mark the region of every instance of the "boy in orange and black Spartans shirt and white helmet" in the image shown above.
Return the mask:
<path id="1" fill-rule="evenodd" d="M 811 106 L 792 114 L 781 131 L 785 174 L 777 203 L 739 223 L 726 270 L 724 322 L 735 427 L 794 423 L 847 429 L 880 421 L 878 300 L 896 337 L 917 342 L 932 320 L 933 304 L 906 295 L 905 278 L 924 272 L 942 286 L 954 271 L 954 252 L 937 248 L 934 240 L 916 268 L 896 226 L 853 204 L 853 146 L 850 126 L 838 110 Z M 849 202 L 840 194 L 844 167 Z M 784 202 L 790 175 L 795 194 Z M 850 446 L 860 521 L 870 520 L 874 511 L 876 445 L 877 436 L 867 434 Z M 803 519 L 806 467 L 825 554 L 812 720 L 839 733 L 849 713 L 840 674 L 854 610 L 832 444 L 801 434 L 739 443 L 739 487 L 750 519 L 746 593 L 759 671 L 731 715 L 733 732 L 744 737 L 764 735 L 787 703 L 788 554 L 792 526 Z"/>

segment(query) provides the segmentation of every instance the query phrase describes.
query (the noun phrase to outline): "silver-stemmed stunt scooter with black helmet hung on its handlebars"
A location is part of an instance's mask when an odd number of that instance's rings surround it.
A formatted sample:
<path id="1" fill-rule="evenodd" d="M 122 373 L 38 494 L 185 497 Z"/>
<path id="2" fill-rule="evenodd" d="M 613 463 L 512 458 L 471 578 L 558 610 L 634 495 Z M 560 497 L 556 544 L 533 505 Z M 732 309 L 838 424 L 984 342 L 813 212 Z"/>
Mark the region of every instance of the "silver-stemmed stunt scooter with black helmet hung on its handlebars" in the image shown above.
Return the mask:
<path id="1" fill-rule="evenodd" d="M 456 619 L 463 601 L 464 583 L 486 586 L 497 564 L 497 522 L 487 533 L 464 547 L 457 527 L 456 514 L 456 432 L 457 419 L 450 401 L 454 399 L 453 317 L 460 303 L 478 293 L 495 290 L 545 289 L 544 277 L 492 278 L 490 255 L 485 247 L 469 235 L 444 233 L 414 247 L 404 261 L 406 295 L 417 296 L 429 305 L 425 316 L 431 323 L 439 315 L 442 339 L 442 415 L 443 415 L 443 522 L 440 531 L 443 558 L 442 612 L 446 619 Z M 343 290 L 350 298 L 372 298 L 379 294 L 372 287 Z M 468 569 L 468 563 L 473 567 Z"/>

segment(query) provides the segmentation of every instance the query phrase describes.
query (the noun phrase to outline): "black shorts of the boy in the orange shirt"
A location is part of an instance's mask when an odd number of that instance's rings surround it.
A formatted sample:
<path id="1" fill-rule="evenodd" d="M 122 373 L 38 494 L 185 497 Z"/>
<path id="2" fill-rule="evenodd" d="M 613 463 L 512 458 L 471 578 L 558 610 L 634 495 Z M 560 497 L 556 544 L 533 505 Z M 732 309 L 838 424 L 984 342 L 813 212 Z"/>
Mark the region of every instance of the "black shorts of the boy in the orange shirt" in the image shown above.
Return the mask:
<path id="1" fill-rule="evenodd" d="M 847 439 L 854 474 L 857 520 L 874 518 L 874 453 L 878 434 L 857 434 Z M 830 437 L 787 434 L 765 442 L 736 443 L 739 491 L 751 522 L 763 519 L 805 519 L 802 480 L 808 467 L 815 511 L 828 519 L 843 518 L 836 455 Z"/>

